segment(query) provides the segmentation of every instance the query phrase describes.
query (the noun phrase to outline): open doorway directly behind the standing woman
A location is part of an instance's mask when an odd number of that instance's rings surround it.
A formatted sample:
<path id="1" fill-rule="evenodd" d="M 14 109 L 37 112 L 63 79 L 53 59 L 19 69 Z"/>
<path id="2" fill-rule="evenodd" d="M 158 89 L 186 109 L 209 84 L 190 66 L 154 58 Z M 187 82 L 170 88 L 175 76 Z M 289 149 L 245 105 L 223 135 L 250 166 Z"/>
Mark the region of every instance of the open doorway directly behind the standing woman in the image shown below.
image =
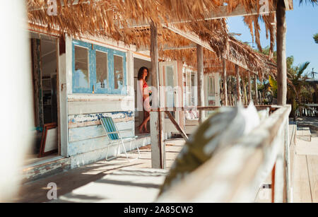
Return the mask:
<path id="1" fill-rule="evenodd" d="M 149 90 L 151 90 L 151 61 L 146 61 L 144 59 L 134 58 L 134 90 L 135 90 L 135 135 L 136 136 L 145 136 L 148 134 L 142 134 L 139 132 L 138 127 L 143 122 L 143 111 L 138 110 L 137 106 L 137 81 L 138 81 L 138 71 L 139 69 L 145 66 L 149 69 L 149 74 L 147 78 L 147 84 L 149 86 Z M 150 131 L 150 122 L 147 124 L 147 130 Z"/>

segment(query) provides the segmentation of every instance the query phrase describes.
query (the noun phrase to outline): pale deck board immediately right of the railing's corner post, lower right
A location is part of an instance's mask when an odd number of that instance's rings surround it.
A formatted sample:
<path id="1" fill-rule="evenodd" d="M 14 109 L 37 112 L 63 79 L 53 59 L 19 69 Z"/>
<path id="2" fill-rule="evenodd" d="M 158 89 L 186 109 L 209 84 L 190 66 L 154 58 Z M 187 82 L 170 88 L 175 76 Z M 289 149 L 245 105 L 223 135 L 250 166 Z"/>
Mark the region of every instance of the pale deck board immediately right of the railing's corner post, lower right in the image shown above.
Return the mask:
<path id="1" fill-rule="evenodd" d="M 295 156 L 293 171 L 293 201 L 295 203 L 311 203 L 310 180 L 306 156 Z"/>

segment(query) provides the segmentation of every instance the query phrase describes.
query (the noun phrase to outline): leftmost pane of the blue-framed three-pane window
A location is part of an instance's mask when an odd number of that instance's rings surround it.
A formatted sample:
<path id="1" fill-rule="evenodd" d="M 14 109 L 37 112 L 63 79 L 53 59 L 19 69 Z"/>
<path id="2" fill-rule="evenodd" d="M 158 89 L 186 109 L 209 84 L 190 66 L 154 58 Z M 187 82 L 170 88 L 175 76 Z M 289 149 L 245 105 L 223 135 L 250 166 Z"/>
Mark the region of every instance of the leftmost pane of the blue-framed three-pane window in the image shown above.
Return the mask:
<path id="1" fill-rule="evenodd" d="M 73 87 L 89 88 L 88 49 L 75 46 L 75 74 Z"/>

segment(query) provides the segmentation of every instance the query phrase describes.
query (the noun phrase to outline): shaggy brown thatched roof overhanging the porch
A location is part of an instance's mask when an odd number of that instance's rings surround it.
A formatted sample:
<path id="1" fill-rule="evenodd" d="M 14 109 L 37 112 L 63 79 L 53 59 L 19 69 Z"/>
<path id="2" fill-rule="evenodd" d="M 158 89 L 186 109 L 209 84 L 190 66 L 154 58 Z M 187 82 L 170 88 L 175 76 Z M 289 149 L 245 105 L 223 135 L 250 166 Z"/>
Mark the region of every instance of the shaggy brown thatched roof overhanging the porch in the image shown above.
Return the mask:
<path id="1" fill-rule="evenodd" d="M 225 3 L 228 12 L 233 11 L 238 5 L 244 6 L 247 12 L 254 9 L 259 11 L 259 0 L 63 0 L 62 4 L 57 1 L 58 16 L 48 16 L 47 1 L 27 0 L 27 2 L 29 23 L 45 26 L 48 31 L 57 30 L 61 35 L 67 33 L 73 37 L 79 35 L 110 37 L 126 45 L 149 47 L 150 30 L 145 23 L 153 22 L 158 26 L 160 57 L 186 61 L 188 65 L 195 67 L 195 49 L 163 49 L 167 46 L 180 47 L 192 43 L 167 30 L 163 25 L 173 22 L 173 25 L 180 30 L 198 35 L 213 49 L 214 52 L 206 49 L 204 51 L 204 57 L 211 66 L 206 66 L 206 73 L 220 72 L 220 69 L 215 68 L 220 66 L 222 57 L 229 60 L 229 73 L 231 62 L 240 63 L 240 66 L 246 66 L 244 68 L 258 72 L 259 76 L 276 71 L 268 57 L 254 52 L 248 45 L 228 35 L 224 18 L 205 20 L 211 13 L 218 13 L 224 8 Z M 273 1 L 269 1 L 269 4 L 269 7 L 273 8 Z M 260 47 L 258 18 L 257 15 L 248 16 L 245 17 L 245 22 Z M 266 24 L 266 33 L 270 33 L 272 49 L 275 34 L 271 23 L 274 16 L 271 14 L 262 18 Z M 253 25 L 256 27 L 254 32 Z"/>

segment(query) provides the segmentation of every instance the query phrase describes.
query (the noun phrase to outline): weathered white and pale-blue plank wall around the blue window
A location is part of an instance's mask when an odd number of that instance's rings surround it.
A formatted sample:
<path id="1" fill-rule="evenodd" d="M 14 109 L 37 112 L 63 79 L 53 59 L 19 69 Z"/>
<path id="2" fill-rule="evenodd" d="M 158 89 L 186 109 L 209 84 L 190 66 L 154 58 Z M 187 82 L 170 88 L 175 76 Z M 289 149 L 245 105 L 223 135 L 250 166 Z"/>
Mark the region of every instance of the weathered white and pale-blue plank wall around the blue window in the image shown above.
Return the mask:
<path id="1" fill-rule="evenodd" d="M 90 40 L 85 40 L 90 42 Z M 93 44 L 96 43 L 91 42 Z M 108 47 L 105 42 L 98 45 Z M 131 51 L 126 52 L 126 82 L 128 93 L 117 94 L 86 94 L 73 93 L 72 91 L 72 52 L 71 40 L 66 43 L 66 83 L 67 83 L 67 156 L 71 157 L 71 168 L 93 163 L 106 158 L 107 146 L 110 144 L 102 125 L 101 117 L 112 117 L 117 124 L 122 137 L 125 139 L 125 146 L 128 150 L 148 144 L 145 141 L 134 142 L 134 59 Z M 114 47 L 112 47 L 114 49 Z M 131 89 L 132 88 L 132 89 Z M 149 139 L 150 140 L 150 139 Z M 132 143 L 131 143 L 132 142 Z M 110 156 L 114 155 L 115 148 L 110 148 Z"/>

